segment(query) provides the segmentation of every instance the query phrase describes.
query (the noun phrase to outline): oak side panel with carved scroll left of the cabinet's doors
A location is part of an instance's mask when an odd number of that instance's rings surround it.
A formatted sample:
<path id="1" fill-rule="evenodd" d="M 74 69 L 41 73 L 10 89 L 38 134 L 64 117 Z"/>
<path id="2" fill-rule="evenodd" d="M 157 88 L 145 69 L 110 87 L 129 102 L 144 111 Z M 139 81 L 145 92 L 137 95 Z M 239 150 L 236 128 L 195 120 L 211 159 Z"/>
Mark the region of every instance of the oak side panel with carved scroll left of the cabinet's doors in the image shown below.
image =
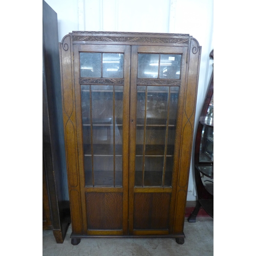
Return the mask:
<path id="1" fill-rule="evenodd" d="M 59 44 L 62 113 L 65 135 L 69 197 L 71 205 L 71 222 L 73 234 L 81 234 L 81 198 L 79 186 L 79 166 L 77 150 L 77 127 L 75 111 L 75 91 L 73 76 L 73 48 L 70 35 L 63 38 Z"/>

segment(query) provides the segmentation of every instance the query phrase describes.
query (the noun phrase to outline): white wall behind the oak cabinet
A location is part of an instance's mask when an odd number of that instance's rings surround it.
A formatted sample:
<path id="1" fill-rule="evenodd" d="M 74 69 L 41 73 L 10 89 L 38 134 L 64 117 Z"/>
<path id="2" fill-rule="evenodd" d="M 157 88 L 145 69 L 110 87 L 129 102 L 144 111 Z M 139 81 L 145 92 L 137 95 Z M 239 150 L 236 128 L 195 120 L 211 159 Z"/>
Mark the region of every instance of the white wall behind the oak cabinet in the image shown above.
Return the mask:
<path id="1" fill-rule="evenodd" d="M 69 32 L 123 31 L 189 34 L 202 46 L 196 122 L 212 72 L 214 0 L 46 0 L 58 15 L 59 41 Z M 196 130 L 196 127 L 195 127 Z M 192 159 L 193 162 L 193 159 Z M 193 165 L 187 200 L 196 200 Z"/>

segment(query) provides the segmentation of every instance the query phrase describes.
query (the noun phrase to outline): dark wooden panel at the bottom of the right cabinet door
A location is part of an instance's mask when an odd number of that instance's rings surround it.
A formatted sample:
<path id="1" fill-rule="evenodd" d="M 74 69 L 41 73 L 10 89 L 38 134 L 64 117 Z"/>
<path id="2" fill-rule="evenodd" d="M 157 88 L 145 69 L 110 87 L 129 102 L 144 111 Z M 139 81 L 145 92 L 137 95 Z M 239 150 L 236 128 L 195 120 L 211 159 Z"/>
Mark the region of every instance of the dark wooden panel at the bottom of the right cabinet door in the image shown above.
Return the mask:
<path id="1" fill-rule="evenodd" d="M 168 229 L 170 193 L 135 193 L 134 229 Z"/>

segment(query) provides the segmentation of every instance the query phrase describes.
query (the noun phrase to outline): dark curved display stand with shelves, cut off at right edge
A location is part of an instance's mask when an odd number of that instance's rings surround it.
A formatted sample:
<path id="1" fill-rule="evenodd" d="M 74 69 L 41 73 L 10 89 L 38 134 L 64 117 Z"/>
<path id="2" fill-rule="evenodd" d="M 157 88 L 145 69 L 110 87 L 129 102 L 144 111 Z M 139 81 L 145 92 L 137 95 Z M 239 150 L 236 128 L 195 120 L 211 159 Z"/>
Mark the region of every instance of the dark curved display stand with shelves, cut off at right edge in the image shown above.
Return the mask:
<path id="1" fill-rule="evenodd" d="M 214 50 L 210 52 L 214 58 Z M 197 204 L 188 217 L 188 222 L 196 222 L 202 207 L 214 218 L 214 72 L 212 71 L 201 116 L 197 127 L 194 152 L 194 173 L 197 189 Z"/>

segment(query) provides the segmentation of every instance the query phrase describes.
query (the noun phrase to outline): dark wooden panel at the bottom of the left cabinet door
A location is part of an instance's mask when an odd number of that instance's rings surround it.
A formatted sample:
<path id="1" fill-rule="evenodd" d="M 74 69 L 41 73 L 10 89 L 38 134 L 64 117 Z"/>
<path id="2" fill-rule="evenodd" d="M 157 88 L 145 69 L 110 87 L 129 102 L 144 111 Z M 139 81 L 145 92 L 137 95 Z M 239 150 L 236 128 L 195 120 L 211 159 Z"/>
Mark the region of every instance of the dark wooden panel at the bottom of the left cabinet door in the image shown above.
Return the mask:
<path id="1" fill-rule="evenodd" d="M 122 229 L 122 193 L 86 193 L 88 229 Z"/>

